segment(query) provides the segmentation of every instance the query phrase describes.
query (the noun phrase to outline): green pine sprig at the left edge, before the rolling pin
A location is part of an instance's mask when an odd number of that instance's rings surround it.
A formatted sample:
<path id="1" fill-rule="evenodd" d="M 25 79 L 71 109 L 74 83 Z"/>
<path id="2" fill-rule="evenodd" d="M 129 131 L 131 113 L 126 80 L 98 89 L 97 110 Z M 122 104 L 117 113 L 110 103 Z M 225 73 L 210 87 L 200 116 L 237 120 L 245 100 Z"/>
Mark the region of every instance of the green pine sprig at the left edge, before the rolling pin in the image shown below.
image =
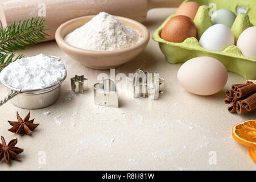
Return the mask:
<path id="1" fill-rule="evenodd" d="M 46 19 L 31 18 L 0 28 L 0 72 L 11 62 L 24 57 L 15 56 L 14 51 L 33 46 L 46 40 Z"/>

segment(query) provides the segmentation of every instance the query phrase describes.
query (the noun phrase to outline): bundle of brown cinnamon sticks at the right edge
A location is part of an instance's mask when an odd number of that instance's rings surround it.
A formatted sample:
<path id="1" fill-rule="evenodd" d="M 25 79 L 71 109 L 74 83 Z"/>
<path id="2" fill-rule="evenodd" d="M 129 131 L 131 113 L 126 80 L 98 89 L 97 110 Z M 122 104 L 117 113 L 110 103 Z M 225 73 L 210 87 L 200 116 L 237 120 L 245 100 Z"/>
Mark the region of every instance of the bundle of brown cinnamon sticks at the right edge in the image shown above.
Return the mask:
<path id="1" fill-rule="evenodd" d="M 225 104 L 230 113 L 244 114 L 256 111 L 256 84 L 247 82 L 246 84 L 234 84 L 232 89 L 226 90 Z"/>

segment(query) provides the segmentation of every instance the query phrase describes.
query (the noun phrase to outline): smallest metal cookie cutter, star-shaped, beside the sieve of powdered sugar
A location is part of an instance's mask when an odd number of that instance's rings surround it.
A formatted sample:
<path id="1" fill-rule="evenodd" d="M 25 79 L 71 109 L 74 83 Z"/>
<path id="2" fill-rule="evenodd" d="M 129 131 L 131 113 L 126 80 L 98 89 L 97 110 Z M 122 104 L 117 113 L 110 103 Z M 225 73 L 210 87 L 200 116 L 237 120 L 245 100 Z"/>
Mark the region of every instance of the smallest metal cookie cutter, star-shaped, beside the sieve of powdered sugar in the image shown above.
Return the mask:
<path id="1" fill-rule="evenodd" d="M 82 76 L 71 78 L 71 88 L 75 93 L 85 93 L 88 90 L 88 79 Z"/>

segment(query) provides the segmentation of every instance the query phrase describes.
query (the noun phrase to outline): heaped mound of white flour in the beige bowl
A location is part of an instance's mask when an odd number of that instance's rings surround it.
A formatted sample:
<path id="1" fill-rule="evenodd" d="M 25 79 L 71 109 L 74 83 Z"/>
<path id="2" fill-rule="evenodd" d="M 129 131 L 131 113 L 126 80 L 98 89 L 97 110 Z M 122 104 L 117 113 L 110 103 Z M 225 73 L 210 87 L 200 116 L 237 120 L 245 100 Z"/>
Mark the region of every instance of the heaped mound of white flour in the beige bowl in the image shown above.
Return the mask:
<path id="1" fill-rule="evenodd" d="M 72 46 L 94 51 L 113 51 L 141 41 L 137 30 L 126 26 L 115 16 L 101 12 L 82 27 L 65 36 Z"/>

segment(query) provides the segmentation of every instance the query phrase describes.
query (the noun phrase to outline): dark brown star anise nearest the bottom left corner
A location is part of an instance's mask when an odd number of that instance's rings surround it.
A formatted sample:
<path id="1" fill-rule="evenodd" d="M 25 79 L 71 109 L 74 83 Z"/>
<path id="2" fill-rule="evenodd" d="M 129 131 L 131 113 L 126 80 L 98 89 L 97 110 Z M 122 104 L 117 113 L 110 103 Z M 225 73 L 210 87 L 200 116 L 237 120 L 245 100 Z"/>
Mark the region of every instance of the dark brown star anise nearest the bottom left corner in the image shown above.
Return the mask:
<path id="1" fill-rule="evenodd" d="M 1 137 L 2 144 L 0 143 L 0 161 L 2 159 L 5 159 L 5 163 L 9 164 L 10 159 L 13 160 L 19 160 L 21 152 L 23 152 L 22 148 L 15 147 L 15 144 L 17 144 L 18 139 L 11 140 L 8 145 L 5 143 L 5 138 Z"/>

